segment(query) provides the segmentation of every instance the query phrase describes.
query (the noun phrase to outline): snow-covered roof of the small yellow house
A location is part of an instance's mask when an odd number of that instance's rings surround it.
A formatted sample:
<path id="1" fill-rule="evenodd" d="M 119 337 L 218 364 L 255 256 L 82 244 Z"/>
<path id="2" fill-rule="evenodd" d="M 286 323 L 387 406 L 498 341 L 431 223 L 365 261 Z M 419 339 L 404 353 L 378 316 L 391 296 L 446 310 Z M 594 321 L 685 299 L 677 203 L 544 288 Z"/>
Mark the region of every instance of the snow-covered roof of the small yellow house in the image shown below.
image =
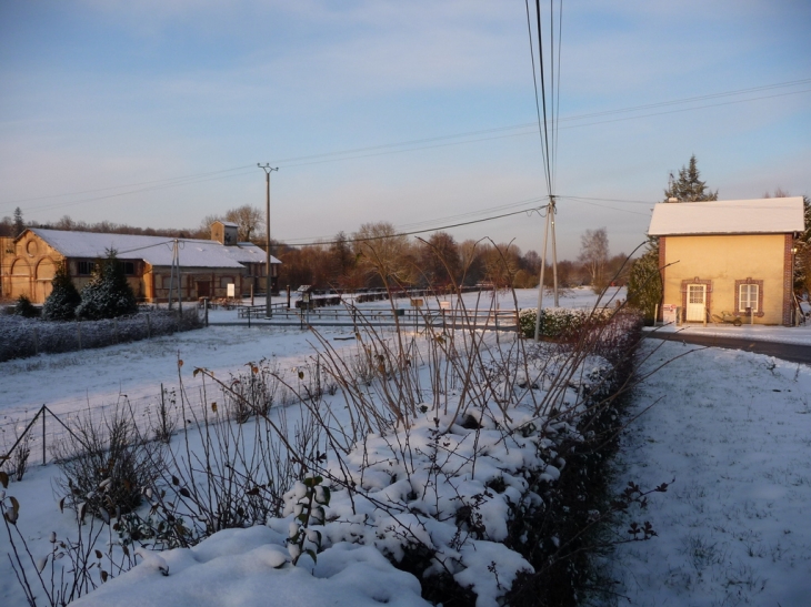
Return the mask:
<path id="1" fill-rule="evenodd" d="M 802 196 L 792 196 L 660 203 L 648 234 L 785 234 L 804 229 Z"/>

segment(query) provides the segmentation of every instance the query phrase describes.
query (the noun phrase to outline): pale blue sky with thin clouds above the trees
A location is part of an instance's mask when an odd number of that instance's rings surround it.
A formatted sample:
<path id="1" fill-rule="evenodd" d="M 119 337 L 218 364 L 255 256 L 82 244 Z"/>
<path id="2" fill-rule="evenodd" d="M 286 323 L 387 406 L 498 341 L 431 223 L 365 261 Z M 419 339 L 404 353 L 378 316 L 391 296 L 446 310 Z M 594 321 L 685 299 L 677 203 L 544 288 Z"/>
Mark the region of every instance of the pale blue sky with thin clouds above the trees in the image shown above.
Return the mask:
<path id="1" fill-rule="evenodd" d="M 581 200 L 559 199 L 560 255 L 602 226 L 630 252 L 693 153 L 722 199 L 811 194 L 809 26 L 801 0 L 563 2 L 554 192 Z M 288 242 L 547 193 L 538 132 L 515 128 L 535 120 L 520 0 L 2 2 L 0 82 L 0 216 L 197 226 L 263 206 L 257 162 L 280 166 L 271 231 Z M 480 134 L 435 139 L 462 133 Z M 542 226 L 451 233 L 527 251 Z"/>

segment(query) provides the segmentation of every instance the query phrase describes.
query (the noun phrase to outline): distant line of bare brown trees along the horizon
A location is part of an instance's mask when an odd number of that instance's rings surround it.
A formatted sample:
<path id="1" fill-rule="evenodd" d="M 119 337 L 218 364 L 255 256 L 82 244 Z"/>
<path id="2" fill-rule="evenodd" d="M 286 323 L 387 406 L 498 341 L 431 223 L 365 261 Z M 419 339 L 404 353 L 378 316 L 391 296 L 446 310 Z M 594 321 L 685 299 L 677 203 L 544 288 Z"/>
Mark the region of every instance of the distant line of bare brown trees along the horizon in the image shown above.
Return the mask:
<path id="1" fill-rule="evenodd" d="M 244 205 L 223 215 L 208 215 L 194 229 L 137 227 L 122 223 L 100 221 L 88 223 L 64 215 L 53 223 L 27 222 L 26 227 L 142 234 L 179 239 L 209 239 L 214 220 L 236 222 L 239 239 L 264 245 L 262 214 Z M 20 217 L 3 217 L 0 235 L 16 235 Z M 600 239 L 594 239 L 600 236 Z M 588 230 L 581 237 L 581 254 L 575 261 L 558 262 L 558 284 L 563 287 L 592 285 L 602 287 L 610 282 L 624 283 L 627 267 L 620 270 L 625 255 L 610 256 L 604 229 Z M 597 246 L 595 246 L 597 245 Z M 435 232 L 425 239 L 398 234 L 387 222 L 367 223 L 347 235 L 338 233 L 320 244 L 290 246 L 272 242 L 272 253 L 281 260 L 279 286 L 298 289 L 302 284 L 319 289 L 354 290 L 363 287 L 400 286 L 473 286 L 485 282 L 497 287 L 538 286 L 541 257 L 535 251 L 522 253 L 514 244 L 495 244 L 490 240 L 457 242 L 447 232 Z M 547 263 L 544 283 L 553 280 Z"/>

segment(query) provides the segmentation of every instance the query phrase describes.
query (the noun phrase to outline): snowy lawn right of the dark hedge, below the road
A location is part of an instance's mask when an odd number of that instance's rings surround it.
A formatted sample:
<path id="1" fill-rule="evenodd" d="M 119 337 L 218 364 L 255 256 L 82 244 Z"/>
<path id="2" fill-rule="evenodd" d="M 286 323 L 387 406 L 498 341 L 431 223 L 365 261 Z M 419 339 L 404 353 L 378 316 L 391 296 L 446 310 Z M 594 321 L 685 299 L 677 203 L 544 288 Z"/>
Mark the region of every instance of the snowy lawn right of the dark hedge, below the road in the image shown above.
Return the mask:
<path id="1" fill-rule="evenodd" d="M 657 346 L 645 368 L 694 352 L 639 390 L 617 487 L 674 483 L 649 507 L 659 536 L 613 555 L 618 591 L 651 607 L 809 605 L 811 367 Z"/>

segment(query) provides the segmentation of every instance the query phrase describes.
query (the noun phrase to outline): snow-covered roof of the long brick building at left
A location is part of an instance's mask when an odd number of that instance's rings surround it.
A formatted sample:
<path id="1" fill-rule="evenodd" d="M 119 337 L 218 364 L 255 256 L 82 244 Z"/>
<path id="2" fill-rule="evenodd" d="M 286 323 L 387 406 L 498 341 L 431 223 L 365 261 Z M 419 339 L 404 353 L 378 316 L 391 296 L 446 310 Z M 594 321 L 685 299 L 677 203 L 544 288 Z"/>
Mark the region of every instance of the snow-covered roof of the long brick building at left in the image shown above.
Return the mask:
<path id="1" fill-rule="evenodd" d="M 173 239 L 139 234 L 102 234 L 31 229 L 67 257 L 97 259 L 114 249 L 120 260 L 143 260 L 151 265 L 171 265 Z M 264 251 L 254 244 L 226 246 L 217 241 L 179 239 L 181 267 L 243 267 L 264 262 Z M 272 263 L 281 263 L 276 257 Z"/>

